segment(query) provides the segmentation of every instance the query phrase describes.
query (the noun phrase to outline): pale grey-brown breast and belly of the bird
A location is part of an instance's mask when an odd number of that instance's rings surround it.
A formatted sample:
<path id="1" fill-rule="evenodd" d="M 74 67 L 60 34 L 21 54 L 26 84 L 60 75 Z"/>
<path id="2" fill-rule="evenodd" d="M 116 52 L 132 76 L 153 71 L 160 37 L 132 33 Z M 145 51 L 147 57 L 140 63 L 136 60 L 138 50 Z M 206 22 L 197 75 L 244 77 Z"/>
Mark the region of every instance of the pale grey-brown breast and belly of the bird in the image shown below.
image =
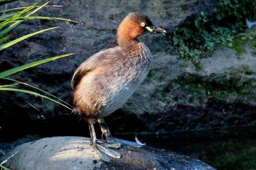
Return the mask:
<path id="1" fill-rule="evenodd" d="M 147 47 L 130 53 L 112 68 L 109 91 L 103 104 L 102 116 L 120 108 L 146 78 L 151 66 L 151 52 Z"/>

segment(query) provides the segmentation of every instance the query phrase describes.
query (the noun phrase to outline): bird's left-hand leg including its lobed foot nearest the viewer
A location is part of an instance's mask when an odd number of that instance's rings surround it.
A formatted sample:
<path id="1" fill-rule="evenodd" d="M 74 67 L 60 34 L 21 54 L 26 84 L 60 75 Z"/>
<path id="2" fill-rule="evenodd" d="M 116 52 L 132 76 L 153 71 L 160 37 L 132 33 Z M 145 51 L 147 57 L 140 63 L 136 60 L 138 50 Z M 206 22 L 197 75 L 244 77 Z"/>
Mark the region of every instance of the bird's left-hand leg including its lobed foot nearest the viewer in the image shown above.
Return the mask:
<path id="1" fill-rule="evenodd" d="M 105 161 L 110 162 L 111 159 L 109 158 L 109 156 L 116 157 L 116 158 L 121 157 L 120 153 L 118 153 L 115 150 L 112 150 L 112 149 L 108 148 L 105 144 L 103 144 L 102 142 L 97 140 L 96 133 L 95 133 L 95 130 L 94 130 L 94 125 L 93 125 L 92 121 L 89 121 L 89 129 L 90 129 L 92 146 L 93 146 L 94 150 L 102 157 L 102 159 L 104 159 Z"/>

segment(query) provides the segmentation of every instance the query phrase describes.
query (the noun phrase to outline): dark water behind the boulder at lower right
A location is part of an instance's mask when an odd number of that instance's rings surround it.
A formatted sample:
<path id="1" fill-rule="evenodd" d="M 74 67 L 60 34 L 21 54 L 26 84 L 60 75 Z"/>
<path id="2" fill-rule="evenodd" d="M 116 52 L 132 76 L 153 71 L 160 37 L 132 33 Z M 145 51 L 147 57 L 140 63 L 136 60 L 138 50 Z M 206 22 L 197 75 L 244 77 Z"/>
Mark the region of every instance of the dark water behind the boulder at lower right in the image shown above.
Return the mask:
<path id="1" fill-rule="evenodd" d="M 135 134 L 115 134 L 134 140 Z M 203 160 L 217 169 L 256 168 L 256 126 L 137 134 L 147 145 Z"/>

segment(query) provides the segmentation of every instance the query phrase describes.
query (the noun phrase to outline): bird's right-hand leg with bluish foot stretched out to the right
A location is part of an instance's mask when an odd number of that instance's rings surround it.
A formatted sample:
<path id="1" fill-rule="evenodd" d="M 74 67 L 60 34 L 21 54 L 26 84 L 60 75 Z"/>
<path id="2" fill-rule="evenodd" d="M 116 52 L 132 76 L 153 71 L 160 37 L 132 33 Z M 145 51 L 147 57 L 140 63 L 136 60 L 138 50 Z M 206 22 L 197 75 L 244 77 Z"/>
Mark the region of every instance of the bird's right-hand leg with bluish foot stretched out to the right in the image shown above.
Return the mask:
<path id="1" fill-rule="evenodd" d="M 116 137 L 113 137 L 111 135 L 111 132 L 108 128 L 108 125 L 107 123 L 104 121 L 103 118 L 99 118 L 98 119 L 98 122 L 100 124 L 100 127 L 101 127 L 101 131 L 102 131 L 102 135 L 105 135 L 107 141 L 109 143 L 119 143 L 119 144 L 127 144 L 129 146 L 132 146 L 132 147 L 142 147 L 141 144 L 139 143 L 136 143 L 136 142 L 132 142 L 132 141 L 127 141 L 127 140 L 123 140 L 123 139 L 119 139 L 119 138 L 116 138 Z"/>

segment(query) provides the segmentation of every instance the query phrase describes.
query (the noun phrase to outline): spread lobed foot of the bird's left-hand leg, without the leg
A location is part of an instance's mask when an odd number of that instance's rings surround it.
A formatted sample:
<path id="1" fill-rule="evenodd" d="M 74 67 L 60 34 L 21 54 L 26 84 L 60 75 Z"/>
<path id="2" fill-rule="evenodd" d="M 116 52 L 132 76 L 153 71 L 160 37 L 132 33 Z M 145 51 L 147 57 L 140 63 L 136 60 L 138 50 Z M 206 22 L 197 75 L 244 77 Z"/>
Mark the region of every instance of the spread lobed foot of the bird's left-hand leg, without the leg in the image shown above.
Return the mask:
<path id="1" fill-rule="evenodd" d="M 119 146 L 116 143 L 114 144 L 114 143 L 99 141 L 96 143 L 92 143 L 92 145 L 94 150 L 101 156 L 101 158 L 107 162 L 111 162 L 111 159 L 109 158 L 109 156 L 115 157 L 115 158 L 120 158 L 122 156 L 119 152 L 109 148 L 109 147 L 119 148 L 121 146 L 121 145 Z"/>

